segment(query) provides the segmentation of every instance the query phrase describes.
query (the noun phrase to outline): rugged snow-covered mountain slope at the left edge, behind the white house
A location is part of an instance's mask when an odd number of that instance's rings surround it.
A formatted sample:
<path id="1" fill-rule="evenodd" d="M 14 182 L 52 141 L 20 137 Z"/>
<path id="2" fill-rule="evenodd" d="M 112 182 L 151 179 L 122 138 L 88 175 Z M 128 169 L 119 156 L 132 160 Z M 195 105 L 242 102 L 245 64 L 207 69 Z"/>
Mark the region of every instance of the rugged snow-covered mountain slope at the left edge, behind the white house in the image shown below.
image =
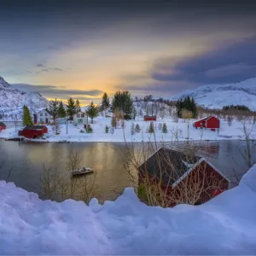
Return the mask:
<path id="1" fill-rule="evenodd" d="M 11 119 L 15 115 L 20 119 L 23 105 L 26 105 L 32 113 L 46 108 L 49 102 L 38 92 L 25 92 L 15 89 L 0 77 L 0 113 L 5 118 Z"/>

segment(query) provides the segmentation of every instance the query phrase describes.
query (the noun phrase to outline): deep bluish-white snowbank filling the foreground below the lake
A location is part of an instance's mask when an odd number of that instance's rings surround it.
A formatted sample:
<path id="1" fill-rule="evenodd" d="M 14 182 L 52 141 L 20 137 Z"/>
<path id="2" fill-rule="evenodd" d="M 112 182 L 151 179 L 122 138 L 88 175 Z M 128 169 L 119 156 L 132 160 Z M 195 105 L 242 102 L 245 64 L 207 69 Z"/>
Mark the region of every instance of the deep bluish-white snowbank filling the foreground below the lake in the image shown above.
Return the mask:
<path id="1" fill-rule="evenodd" d="M 1 254 L 255 254 L 256 166 L 207 204 L 147 207 L 125 189 L 90 206 L 0 182 Z"/>

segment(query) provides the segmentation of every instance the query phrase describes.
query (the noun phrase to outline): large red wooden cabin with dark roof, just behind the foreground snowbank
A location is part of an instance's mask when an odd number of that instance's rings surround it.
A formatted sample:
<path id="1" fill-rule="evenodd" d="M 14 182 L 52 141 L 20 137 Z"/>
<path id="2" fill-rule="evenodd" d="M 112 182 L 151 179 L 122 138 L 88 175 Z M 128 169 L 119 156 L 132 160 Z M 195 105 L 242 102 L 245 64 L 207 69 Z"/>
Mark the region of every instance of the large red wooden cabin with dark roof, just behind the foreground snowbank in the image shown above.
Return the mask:
<path id="1" fill-rule="evenodd" d="M 183 195 L 181 191 L 186 189 L 193 192 L 186 195 L 187 200 L 193 201 L 195 195 L 193 186 L 200 195 L 195 204 L 202 204 L 228 189 L 230 183 L 230 179 L 205 158 L 168 148 L 160 148 L 150 156 L 138 168 L 138 173 L 139 184 L 148 185 L 148 182 L 149 185 L 160 184 L 165 195 L 171 198 L 168 201 L 169 207 L 177 205 L 178 199 Z"/>

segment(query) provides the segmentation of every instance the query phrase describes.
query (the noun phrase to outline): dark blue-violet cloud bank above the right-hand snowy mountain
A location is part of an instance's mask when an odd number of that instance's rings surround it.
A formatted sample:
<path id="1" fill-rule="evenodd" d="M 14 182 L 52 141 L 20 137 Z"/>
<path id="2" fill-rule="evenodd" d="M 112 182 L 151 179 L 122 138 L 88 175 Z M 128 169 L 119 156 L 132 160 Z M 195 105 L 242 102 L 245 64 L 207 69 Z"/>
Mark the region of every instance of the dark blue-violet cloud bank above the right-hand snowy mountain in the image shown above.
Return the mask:
<path id="1" fill-rule="evenodd" d="M 256 37 L 252 37 L 181 60 L 158 60 L 151 77 L 160 82 L 195 84 L 226 84 L 250 79 L 256 77 L 255 45 Z"/>

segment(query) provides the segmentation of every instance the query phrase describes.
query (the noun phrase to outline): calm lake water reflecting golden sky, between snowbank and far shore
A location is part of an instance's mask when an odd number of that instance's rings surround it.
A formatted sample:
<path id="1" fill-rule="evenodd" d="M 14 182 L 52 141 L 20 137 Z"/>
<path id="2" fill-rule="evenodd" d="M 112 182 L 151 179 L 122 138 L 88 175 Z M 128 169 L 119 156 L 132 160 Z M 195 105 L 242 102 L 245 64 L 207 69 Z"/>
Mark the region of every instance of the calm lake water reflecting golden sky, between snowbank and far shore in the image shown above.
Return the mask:
<path id="1" fill-rule="evenodd" d="M 201 146 L 206 143 L 197 144 Z M 96 167 L 94 195 L 100 201 L 113 200 L 118 196 L 117 192 L 131 186 L 123 166 L 125 143 L 22 143 L 1 140 L 0 145 L 0 163 L 4 162 L 0 179 L 5 179 L 12 168 L 9 181 L 41 197 L 39 177 L 43 163 L 52 166 L 56 172 L 66 172 L 67 155 L 71 149 L 83 154 L 81 166 Z M 241 177 L 247 172 L 247 164 L 241 156 L 245 142 L 220 141 L 208 142 L 207 145 L 212 164 L 224 174 L 230 177 L 235 170 Z M 255 145 L 252 142 L 253 160 L 256 160 Z M 236 181 L 236 178 L 232 180 Z"/>

